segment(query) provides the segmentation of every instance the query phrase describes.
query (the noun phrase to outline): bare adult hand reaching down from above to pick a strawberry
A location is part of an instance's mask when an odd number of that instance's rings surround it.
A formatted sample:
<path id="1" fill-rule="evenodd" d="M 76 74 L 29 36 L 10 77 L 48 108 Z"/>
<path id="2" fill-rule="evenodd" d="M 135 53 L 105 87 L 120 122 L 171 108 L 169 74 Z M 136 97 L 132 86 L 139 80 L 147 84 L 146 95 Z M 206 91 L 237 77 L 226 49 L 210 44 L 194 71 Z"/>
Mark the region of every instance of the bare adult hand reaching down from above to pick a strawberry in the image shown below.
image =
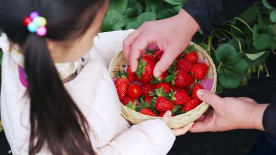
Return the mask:
<path id="1" fill-rule="evenodd" d="M 156 43 L 164 51 L 153 72 L 155 77 L 159 77 L 188 46 L 198 30 L 197 22 L 183 9 L 171 18 L 145 22 L 124 40 L 124 57 L 134 72 L 138 65 L 137 59 L 149 44 Z"/>

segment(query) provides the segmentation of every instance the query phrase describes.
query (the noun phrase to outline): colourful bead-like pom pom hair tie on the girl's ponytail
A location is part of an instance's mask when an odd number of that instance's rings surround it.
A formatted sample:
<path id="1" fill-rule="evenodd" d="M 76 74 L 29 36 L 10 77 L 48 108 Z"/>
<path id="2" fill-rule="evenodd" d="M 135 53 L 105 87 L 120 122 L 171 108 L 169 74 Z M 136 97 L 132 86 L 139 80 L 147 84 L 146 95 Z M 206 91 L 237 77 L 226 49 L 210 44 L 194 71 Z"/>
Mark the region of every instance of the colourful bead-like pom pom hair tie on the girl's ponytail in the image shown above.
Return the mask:
<path id="1" fill-rule="evenodd" d="M 45 36 L 47 34 L 47 20 L 39 16 L 38 12 L 32 12 L 30 16 L 24 18 L 24 24 L 28 27 L 31 33 L 36 33 L 38 36 Z"/>

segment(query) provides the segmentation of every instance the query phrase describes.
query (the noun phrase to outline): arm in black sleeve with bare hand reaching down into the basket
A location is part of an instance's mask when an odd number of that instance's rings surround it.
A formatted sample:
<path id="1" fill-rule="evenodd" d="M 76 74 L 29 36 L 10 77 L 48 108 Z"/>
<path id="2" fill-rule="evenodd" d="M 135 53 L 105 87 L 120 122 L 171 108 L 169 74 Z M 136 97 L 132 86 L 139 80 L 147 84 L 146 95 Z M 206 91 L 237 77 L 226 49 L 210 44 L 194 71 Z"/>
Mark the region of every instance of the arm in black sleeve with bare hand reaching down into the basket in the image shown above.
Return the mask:
<path id="1" fill-rule="evenodd" d="M 130 62 L 131 71 L 137 69 L 137 59 L 150 43 L 164 51 L 155 65 L 154 76 L 166 71 L 174 59 L 190 43 L 194 34 L 202 29 L 212 31 L 254 4 L 254 0 L 189 0 L 180 12 L 167 19 L 148 21 L 123 42 L 124 57 Z"/>

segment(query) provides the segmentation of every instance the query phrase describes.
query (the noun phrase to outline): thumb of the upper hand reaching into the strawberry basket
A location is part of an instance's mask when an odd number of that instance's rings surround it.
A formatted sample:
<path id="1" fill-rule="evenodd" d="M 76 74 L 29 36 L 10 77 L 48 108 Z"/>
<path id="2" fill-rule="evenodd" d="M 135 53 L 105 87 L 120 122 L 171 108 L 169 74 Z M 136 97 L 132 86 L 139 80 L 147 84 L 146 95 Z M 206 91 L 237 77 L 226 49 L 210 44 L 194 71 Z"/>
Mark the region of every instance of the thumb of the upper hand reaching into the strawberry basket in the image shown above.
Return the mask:
<path id="1" fill-rule="evenodd" d="M 174 47 L 168 48 L 168 50 L 165 50 L 161 59 L 156 63 L 153 71 L 153 75 L 155 77 L 159 77 L 162 73 L 164 73 L 167 69 L 169 69 L 174 59 L 178 56 L 178 55 L 175 55 L 175 52 L 173 52 L 175 51 L 175 49 L 173 48 Z"/>

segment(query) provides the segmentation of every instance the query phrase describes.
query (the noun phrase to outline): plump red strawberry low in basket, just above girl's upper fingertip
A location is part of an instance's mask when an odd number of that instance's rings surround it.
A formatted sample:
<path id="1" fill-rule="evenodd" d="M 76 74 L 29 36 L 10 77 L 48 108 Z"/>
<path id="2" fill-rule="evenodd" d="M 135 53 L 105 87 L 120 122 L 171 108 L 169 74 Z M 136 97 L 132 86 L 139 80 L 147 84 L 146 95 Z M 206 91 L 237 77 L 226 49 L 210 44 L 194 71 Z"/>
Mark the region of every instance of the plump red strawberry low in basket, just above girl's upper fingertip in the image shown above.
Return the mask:
<path id="1" fill-rule="evenodd" d="M 171 111 L 173 110 L 173 104 L 172 102 L 165 98 L 165 97 L 157 97 L 156 102 L 155 102 L 155 109 L 158 112 L 166 112 L 166 111 Z"/>

